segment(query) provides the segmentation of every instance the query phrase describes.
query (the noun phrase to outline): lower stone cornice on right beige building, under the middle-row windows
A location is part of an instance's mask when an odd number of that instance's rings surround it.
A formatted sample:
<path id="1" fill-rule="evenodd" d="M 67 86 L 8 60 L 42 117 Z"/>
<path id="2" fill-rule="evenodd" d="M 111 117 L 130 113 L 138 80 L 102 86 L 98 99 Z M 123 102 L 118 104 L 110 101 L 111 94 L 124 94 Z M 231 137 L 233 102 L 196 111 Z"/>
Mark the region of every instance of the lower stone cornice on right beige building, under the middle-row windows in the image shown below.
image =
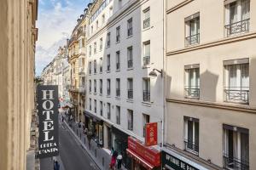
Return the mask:
<path id="1" fill-rule="evenodd" d="M 211 107 L 216 109 L 241 111 L 241 112 L 256 114 L 256 107 L 251 107 L 249 105 L 237 105 L 237 104 L 230 104 L 230 103 L 217 103 L 217 102 L 189 100 L 189 99 L 166 99 L 166 102 L 183 104 L 183 105 L 198 105 L 202 107 Z"/>

